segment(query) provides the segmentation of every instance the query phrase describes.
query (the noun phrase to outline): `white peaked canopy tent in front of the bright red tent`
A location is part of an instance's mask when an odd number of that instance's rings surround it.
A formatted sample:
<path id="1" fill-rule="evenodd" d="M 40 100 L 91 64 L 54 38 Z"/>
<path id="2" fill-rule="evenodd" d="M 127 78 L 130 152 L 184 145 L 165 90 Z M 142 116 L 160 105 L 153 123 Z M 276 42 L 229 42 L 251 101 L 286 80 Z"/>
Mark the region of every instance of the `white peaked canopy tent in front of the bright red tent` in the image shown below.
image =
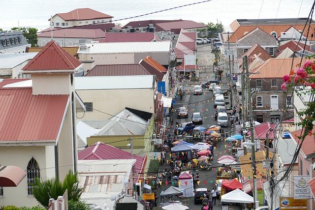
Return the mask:
<path id="1" fill-rule="evenodd" d="M 243 192 L 242 190 L 235 189 L 229 193 L 222 195 L 221 202 L 250 204 L 254 202 L 254 199 L 252 196 Z"/>

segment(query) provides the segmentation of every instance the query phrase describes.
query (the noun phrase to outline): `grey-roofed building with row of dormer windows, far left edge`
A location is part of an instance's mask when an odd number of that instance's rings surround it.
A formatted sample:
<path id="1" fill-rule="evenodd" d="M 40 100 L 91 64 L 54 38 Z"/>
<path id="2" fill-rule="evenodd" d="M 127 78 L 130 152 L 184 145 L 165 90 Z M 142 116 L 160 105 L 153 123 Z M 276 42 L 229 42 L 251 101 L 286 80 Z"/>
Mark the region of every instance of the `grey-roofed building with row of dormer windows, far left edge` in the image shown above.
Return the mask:
<path id="1" fill-rule="evenodd" d="M 0 54 L 25 53 L 31 47 L 21 31 L 0 33 Z"/>

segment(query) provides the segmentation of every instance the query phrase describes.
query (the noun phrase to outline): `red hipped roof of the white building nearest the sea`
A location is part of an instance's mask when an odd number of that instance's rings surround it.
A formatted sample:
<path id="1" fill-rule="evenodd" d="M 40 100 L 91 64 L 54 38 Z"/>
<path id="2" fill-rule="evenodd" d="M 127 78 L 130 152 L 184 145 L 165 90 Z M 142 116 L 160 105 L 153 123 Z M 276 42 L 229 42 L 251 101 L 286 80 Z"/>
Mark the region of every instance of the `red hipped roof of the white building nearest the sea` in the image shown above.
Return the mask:
<path id="1" fill-rule="evenodd" d="M 90 8 L 79 8 L 74 9 L 67 13 L 57 13 L 65 21 L 72 20 L 91 20 L 91 19 L 101 19 L 101 18 L 112 18 L 113 16 L 95 11 Z M 50 20 L 50 19 L 49 19 Z"/>

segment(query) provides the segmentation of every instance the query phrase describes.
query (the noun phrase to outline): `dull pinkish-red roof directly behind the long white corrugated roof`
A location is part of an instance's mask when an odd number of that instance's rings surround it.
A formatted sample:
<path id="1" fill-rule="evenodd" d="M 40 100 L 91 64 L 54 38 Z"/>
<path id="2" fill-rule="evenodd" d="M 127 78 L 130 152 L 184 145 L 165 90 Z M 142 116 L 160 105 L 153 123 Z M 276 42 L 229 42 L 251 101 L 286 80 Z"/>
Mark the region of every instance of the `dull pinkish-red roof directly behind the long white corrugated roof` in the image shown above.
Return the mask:
<path id="1" fill-rule="evenodd" d="M 104 34 L 104 33 L 103 33 Z M 104 42 L 151 42 L 155 35 L 153 32 L 144 33 L 106 33 L 105 38 L 97 39 L 100 43 Z M 158 41 L 160 39 L 157 39 Z"/>

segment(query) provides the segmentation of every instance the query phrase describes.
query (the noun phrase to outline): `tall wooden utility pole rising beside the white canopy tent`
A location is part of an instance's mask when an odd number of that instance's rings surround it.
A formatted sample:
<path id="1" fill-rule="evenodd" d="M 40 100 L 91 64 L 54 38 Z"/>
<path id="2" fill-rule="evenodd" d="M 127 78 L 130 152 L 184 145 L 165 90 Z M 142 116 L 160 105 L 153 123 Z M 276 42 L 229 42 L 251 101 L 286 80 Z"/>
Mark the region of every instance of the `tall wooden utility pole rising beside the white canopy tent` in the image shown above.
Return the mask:
<path id="1" fill-rule="evenodd" d="M 245 56 L 245 66 L 246 66 L 246 74 L 249 74 L 248 70 L 248 63 L 247 63 L 247 56 Z M 253 127 L 253 116 L 252 116 L 252 92 L 251 92 L 251 85 L 250 85 L 250 79 L 249 75 L 246 76 L 246 83 L 247 83 L 247 91 L 248 91 L 248 104 L 249 104 L 249 120 L 250 120 L 250 127 L 251 127 L 251 142 L 255 144 L 254 140 L 254 127 Z M 254 209 L 256 209 L 256 200 L 257 200 L 257 180 L 256 180 L 256 155 L 255 155 L 255 145 L 252 146 L 252 177 L 253 177 L 253 199 L 254 199 Z"/>

